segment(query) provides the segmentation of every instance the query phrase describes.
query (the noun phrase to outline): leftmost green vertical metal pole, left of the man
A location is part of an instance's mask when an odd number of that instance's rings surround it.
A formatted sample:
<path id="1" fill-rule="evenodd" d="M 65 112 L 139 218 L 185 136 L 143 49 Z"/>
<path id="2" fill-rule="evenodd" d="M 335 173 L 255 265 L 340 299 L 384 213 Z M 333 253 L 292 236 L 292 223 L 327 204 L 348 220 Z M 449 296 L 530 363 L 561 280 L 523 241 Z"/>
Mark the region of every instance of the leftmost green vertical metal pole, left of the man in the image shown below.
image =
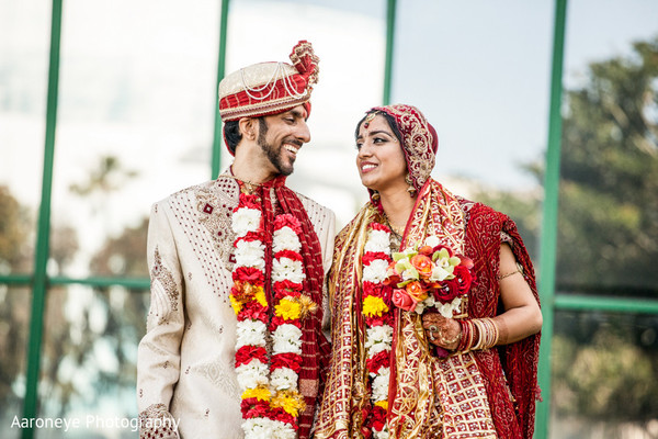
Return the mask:
<path id="1" fill-rule="evenodd" d="M 61 37 L 61 3 L 53 0 L 50 25 L 50 59 L 48 67 L 48 97 L 46 104 L 46 138 L 44 147 L 44 172 L 42 178 L 42 200 L 38 212 L 38 229 L 34 257 L 34 283 L 32 285 L 32 314 L 30 316 L 30 344 L 27 346 L 27 373 L 23 417 L 35 418 L 38 409 L 38 381 L 41 370 L 41 348 L 44 328 L 44 309 L 48 278 L 50 239 L 50 191 L 53 187 L 53 160 L 55 156 L 55 128 L 57 125 L 57 97 L 59 87 L 59 43 Z M 23 439 L 32 439 L 32 428 L 22 430 Z"/>

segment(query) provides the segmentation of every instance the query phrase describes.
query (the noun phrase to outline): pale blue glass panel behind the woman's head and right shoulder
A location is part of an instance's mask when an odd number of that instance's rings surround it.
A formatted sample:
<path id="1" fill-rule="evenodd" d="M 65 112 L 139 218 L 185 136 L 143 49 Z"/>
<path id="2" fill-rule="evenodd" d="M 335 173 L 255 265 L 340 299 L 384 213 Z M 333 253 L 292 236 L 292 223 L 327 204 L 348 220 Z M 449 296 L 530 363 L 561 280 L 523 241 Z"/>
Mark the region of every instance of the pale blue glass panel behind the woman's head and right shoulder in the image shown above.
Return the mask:
<path id="1" fill-rule="evenodd" d="M 509 214 L 533 257 L 552 41 L 553 2 L 398 2 L 393 101 L 436 130 L 433 178 Z"/>

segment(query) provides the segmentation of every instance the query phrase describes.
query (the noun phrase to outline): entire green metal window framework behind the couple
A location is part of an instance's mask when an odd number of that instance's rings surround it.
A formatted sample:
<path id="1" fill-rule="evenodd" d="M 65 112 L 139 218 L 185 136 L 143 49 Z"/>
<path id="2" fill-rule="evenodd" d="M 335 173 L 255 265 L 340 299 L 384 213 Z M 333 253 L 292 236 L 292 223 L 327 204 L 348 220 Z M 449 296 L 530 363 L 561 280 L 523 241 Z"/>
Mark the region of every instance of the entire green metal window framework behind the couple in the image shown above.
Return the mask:
<path id="1" fill-rule="evenodd" d="M 392 95 L 392 78 L 394 65 L 396 0 L 387 1 L 386 12 L 386 60 L 384 71 L 383 102 L 388 104 Z M 88 278 L 71 279 L 65 277 L 49 278 L 46 264 L 49 255 L 50 230 L 50 193 L 53 183 L 53 161 L 55 154 L 55 131 L 57 125 L 57 100 L 59 83 L 59 52 L 61 36 L 63 0 L 53 0 L 50 50 L 48 68 L 48 91 L 46 106 L 46 134 L 44 145 L 44 169 L 42 178 L 42 200 L 38 211 L 36 250 L 34 256 L 34 273 L 0 275 L 0 284 L 31 285 L 32 311 L 30 320 L 30 344 L 27 347 L 26 390 L 23 416 L 38 416 L 38 378 L 41 349 L 43 342 L 43 324 L 47 289 L 50 285 L 84 284 L 106 288 L 121 285 L 131 289 L 146 290 L 148 279 Z M 225 74 L 227 25 L 229 0 L 222 1 L 219 47 L 217 59 L 217 82 Z M 642 299 L 611 299 L 604 296 L 560 295 L 555 294 L 555 257 L 557 246 L 557 216 L 559 190 L 559 162 L 561 138 L 561 97 L 563 97 L 563 59 L 565 47 L 565 29 L 567 0 L 555 1 L 553 63 L 551 77 L 551 108 L 548 121 L 548 148 L 546 153 L 546 173 L 544 181 L 544 205 L 541 236 L 540 259 L 540 295 L 544 314 L 544 328 L 540 352 L 540 385 L 544 402 L 537 406 L 535 437 L 548 438 L 549 401 L 551 401 L 551 345 L 553 336 L 553 318 L 556 309 L 604 311 L 614 313 L 658 314 L 658 301 Z M 215 90 L 216 91 L 216 90 Z M 216 102 L 216 100 L 215 100 Z M 216 178 L 220 167 L 222 121 L 215 104 L 215 125 L 213 135 L 212 177 Z M 32 429 L 23 429 L 22 438 L 31 439 Z"/>

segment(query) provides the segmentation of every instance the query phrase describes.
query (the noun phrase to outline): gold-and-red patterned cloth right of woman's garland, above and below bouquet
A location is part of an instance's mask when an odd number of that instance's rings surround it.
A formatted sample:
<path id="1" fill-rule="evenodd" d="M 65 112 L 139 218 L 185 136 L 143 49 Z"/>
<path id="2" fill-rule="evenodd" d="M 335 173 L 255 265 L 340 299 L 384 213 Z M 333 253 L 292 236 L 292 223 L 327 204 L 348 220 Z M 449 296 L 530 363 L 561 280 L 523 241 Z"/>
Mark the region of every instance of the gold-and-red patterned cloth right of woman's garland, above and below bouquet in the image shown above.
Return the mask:
<path id="1" fill-rule="evenodd" d="M 453 251 L 464 252 L 464 212 L 454 195 L 438 182 L 431 180 L 424 187 L 410 222 L 404 246 L 435 235 Z M 463 304 L 458 317 L 466 317 L 466 309 Z M 400 313 L 397 337 L 392 437 L 496 438 L 486 389 L 473 354 L 433 357 L 421 318 L 415 313 Z"/>

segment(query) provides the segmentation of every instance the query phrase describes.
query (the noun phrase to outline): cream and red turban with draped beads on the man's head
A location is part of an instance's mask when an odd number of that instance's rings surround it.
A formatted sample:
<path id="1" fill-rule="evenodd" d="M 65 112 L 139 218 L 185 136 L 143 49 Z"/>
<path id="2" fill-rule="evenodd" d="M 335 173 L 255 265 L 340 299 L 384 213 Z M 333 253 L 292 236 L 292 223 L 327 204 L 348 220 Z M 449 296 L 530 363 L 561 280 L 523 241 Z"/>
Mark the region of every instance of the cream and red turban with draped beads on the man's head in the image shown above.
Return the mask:
<path id="1" fill-rule="evenodd" d="M 318 82 L 319 58 L 300 41 L 291 53 L 293 65 L 259 63 L 219 82 L 219 115 L 224 122 L 277 114 L 299 104 L 310 113 L 310 92 Z"/>

